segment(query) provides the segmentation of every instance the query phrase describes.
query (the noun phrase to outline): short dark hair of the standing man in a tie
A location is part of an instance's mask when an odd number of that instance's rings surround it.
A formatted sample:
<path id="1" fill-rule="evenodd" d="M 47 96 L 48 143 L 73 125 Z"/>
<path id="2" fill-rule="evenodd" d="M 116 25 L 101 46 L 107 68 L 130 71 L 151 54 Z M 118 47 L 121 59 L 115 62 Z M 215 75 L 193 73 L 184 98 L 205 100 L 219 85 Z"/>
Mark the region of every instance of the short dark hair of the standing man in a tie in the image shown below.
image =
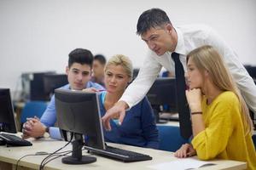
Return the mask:
<path id="1" fill-rule="evenodd" d="M 137 35 L 141 36 L 150 28 L 157 28 L 164 24 L 171 24 L 166 12 L 160 8 L 150 8 L 140 15 L 137 21 Z"/>

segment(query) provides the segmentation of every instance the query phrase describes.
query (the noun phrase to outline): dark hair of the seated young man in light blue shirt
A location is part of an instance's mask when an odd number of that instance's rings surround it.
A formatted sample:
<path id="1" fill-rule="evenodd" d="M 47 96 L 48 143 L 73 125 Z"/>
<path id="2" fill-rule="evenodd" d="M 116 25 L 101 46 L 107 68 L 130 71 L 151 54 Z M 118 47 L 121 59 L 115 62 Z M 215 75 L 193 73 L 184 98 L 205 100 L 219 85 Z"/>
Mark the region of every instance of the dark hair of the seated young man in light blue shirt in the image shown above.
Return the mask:
<path id="1" fill-rule="evenodd" d="M 71 67 L 73 63 L 79 63 L 81 65 L 90 65 L 92 67 L 93 55 L 90 50 L 84 48 L 76 48 L 70 54 L 68 54 L 68 67 Z"/>

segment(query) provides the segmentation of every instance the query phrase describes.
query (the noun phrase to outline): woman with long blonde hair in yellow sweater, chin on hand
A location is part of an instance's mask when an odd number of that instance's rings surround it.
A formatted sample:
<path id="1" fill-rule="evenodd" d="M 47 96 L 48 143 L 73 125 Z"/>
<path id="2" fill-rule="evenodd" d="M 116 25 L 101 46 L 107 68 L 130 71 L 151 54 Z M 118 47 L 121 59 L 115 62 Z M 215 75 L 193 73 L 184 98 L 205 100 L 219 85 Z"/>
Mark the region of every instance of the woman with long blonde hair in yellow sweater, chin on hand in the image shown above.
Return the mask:
<path id="1" fill-rule="evenodd" d="M 175 156 L 247 161 L 248 169 L 256 169 L 253 123 L 222 57 L 211 46 L 203 46 L 188 54 L 187 65 L 194 139 Z"/>

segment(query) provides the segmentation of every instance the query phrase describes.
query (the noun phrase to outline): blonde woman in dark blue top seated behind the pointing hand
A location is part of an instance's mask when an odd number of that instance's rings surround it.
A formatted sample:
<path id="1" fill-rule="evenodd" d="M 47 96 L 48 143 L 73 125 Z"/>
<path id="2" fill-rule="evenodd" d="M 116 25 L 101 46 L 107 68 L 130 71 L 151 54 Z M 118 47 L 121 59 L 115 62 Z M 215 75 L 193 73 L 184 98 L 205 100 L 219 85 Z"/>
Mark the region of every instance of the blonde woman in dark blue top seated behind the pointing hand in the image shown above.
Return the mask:
<path id="1" fill-rule="evenodd" d="M 114 55 L 105 67 L 105 86 L 107 91 L 100 94 L 102 116 L 119 100 L 132 79 L 131 60 L 125 55 Z M 154 113 L 144 98 L 141 102 L 126 111 L 122 125 L 111 120 L 111 131 L 104 131 L 107 141 L 119 144 L 130 144 L 157 149 L 159 146 L 158 130 L 154 122 Z"/>

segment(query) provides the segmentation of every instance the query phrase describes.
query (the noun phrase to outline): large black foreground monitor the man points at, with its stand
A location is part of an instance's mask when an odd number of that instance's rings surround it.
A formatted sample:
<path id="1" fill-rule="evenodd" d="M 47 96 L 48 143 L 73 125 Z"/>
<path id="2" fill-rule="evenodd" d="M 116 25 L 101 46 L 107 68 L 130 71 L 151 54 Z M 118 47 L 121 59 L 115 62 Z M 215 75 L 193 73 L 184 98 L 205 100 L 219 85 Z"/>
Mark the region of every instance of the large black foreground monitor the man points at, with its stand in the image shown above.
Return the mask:
<path id="1" fill-rule="evenodd" d="M 71 132 L 76 141 L 73 143 L 73 156 L 63 158 L 62 162 L 70 163 L 73 159 L 80 160 L 79 157 L 87 159 L 81 154 L 83 136 L 86 145 L 105 149 L 98 96 L 95 93 L 55 89 L 55 108 L 57 123 L 64 139 L 67 140 L 66 132 Z"/>

